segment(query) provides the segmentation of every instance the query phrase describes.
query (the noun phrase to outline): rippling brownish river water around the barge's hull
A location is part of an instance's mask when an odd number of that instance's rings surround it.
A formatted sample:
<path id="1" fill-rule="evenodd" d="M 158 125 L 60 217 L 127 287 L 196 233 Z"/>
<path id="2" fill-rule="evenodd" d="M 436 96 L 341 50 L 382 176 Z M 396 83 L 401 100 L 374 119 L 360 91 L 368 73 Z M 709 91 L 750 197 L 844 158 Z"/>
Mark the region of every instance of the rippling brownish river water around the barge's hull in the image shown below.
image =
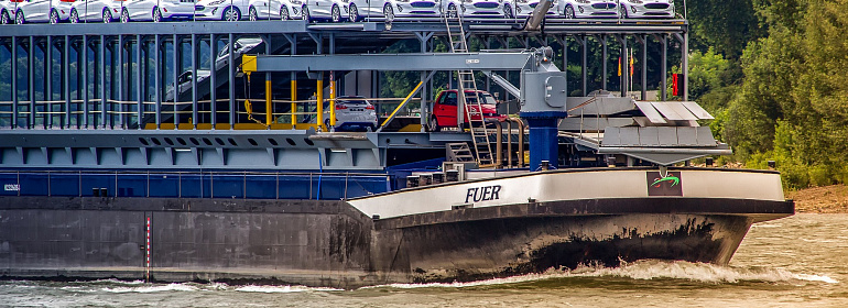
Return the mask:
<path id="1" fill-rule="evenodd" d="M 464 284 L 302 286 L 0 282 L 11 307 L 848 307 L 848 215 L 755 224 L 728 266 L 641 261 L 617 268 Z"/>

